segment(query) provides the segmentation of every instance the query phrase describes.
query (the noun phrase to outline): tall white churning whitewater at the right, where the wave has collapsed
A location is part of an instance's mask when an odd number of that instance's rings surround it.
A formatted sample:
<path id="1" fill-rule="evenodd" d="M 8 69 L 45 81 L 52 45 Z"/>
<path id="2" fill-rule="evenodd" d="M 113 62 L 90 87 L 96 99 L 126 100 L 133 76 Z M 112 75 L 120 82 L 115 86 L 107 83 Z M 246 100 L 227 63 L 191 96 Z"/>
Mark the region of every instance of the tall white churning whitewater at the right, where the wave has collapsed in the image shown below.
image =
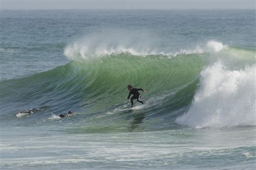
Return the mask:
<path id="1" fill-rule="evenodd" d="M 215 62 L 201 72 L 200 88 L 177 123 L 194 128 L 255 125 L 255 65 L 227 70 Z"/>

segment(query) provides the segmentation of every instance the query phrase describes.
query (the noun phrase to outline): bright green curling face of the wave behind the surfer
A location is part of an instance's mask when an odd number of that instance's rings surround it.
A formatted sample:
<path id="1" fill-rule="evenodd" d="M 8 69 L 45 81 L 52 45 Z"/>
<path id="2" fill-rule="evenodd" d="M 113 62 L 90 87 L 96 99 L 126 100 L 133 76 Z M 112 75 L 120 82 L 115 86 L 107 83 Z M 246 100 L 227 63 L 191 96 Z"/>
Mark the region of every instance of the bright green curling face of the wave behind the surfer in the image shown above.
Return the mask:
<path id="1" fill-rule="evenodd" d="M 71 63 L 76 64 L 86 70 L 85 97 L 98 99 L 95 101 L 98 109 L 124 102 L 128 84 L 146 89 L 144 98 L 180 90 L 196 79 L 203 66 L 196 54 L 171 59 L 161 55 L 119 54 L 89 63 Z"/>

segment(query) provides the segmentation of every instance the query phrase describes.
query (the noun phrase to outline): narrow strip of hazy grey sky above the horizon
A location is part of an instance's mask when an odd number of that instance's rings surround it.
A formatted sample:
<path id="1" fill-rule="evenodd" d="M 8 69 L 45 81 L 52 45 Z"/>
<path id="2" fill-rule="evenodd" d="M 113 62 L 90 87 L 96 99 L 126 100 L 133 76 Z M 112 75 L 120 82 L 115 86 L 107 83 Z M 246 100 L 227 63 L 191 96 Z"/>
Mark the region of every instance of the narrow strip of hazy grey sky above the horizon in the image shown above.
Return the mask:
<path id="1" fill-rule="evenodd" d="M 1 9 L 255 9 L 255 0 L 0 0 Z"/>

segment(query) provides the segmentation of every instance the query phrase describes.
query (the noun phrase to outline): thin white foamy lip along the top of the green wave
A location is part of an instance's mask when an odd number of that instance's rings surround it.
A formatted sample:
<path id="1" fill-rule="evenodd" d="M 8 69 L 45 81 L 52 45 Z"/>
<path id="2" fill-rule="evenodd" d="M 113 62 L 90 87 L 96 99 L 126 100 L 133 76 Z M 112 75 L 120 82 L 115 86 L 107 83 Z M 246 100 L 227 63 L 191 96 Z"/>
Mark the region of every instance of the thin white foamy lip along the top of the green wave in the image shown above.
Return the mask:
<path id="1" fill-rule="evenodd" d="M 103 43 L 103 42 L 102 42 Z M 70 60 L 95 60 L 102 56 L 112 55 L 112 54 L 122 54 L 128 53 L 134 56 L 147 56 L 147 55 L 164 55 L 170 58 L 177 55 L 188 55 L 188 54 L 202 54 L 205 52 L 219 52 L 227 46 L 223 45 L 221 42 L 208 41 L 204 47 L 196 46 L 193 49 L 180 49 L 178 52 L 164 52 L 158 49 L 150 48 L 140 48 L 134 46 L 126 46 L 122 44 L 117 44 L 116 46 L 109 44 L 98 44 L 93 46 L 89 42 L 73 42 L 66 46 L 64 55 Z"/>

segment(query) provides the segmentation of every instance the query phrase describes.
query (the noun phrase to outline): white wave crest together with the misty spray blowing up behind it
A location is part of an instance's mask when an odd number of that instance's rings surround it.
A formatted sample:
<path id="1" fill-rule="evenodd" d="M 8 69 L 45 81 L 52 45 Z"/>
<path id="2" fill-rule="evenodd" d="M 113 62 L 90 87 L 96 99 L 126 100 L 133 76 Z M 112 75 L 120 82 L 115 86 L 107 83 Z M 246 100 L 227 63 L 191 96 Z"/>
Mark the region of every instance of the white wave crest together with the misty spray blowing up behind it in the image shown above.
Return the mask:
<path id="1" fill-rule="evenodd" d="M 70 60 L 91 61 L 100 57 L 129 53 L 136 56 L 165 55 L 169 57 L 180 54 L 215 53 L 227 48 L 221 42 L 210 40 L 205 45 L 194 45 L 188 49 L 173 51 L 172 47 L 165 49 L 159 45 L 156 36 L 150 33 L 100 33 L 90 34 L 70 43 L 64 50 L 64 55 Z"/>

